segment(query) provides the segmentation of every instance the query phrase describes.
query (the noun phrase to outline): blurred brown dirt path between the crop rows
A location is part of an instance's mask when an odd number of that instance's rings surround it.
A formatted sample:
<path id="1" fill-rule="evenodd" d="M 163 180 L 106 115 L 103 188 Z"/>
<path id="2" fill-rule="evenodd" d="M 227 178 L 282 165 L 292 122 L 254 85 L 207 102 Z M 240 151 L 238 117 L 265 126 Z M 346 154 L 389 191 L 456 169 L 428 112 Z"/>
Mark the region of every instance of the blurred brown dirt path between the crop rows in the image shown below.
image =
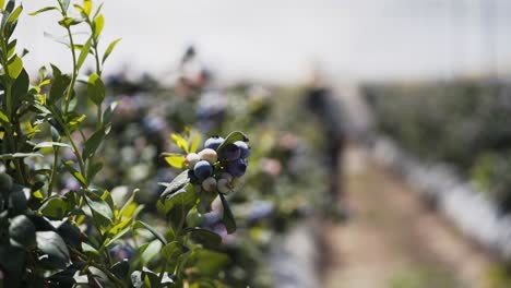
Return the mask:
<path id="1" fill-rule="evenodd" d="M 345 157 L 350 218 L 328 225 L 329 288 L 495 287 L 489 256 L 359 147 Z"/>

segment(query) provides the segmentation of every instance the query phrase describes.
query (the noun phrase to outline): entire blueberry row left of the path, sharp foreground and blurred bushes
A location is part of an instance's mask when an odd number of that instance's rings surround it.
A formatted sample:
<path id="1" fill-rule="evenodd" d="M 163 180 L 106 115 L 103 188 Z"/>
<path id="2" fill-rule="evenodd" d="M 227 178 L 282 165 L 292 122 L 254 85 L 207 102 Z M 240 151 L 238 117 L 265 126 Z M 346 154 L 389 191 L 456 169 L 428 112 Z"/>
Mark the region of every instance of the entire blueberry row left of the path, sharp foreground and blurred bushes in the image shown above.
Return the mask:
<path id="1" fill-rule="evenodd" d="M 31 77 L 23 5 L 0 3 L 0 287 L 277 286 L 277 239 L 333 211 L 304 89 L 221 86 L 193 49 L 173 85 L 105 79 L 119 40 L 99 48 L 91 0 L 32 13 L 56 15 L 73 69 Z"/>

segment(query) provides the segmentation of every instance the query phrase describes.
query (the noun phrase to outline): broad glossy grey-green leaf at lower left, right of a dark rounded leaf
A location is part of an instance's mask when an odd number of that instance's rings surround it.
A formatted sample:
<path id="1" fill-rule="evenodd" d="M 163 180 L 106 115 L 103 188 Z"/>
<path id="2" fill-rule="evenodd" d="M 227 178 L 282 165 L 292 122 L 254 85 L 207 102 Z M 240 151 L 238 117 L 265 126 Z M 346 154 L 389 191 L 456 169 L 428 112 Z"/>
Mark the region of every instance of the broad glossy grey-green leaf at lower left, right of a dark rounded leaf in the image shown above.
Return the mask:
<path id="1" fill-rule="evenodd" d="M 37 249 L 45 255 L 39 257 L 43 264 L 56 269 L 63 269 L 70 263 L 69 250 L 62 238 L 54 231 L 36 232 Z"/>

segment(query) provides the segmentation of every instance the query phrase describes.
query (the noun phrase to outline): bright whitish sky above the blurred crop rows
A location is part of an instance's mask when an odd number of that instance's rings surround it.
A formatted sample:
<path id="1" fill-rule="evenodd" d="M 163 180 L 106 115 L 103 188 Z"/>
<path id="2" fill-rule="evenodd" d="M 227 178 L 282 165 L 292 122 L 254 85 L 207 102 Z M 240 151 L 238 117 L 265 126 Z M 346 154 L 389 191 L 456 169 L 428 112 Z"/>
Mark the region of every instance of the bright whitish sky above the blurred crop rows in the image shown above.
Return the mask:
<path id="1" fill-rule="evenodd" d="M 24 1 L 25 11 L 55 1 Z M 312 61 L 371 80 L 511 70 L 509 0 L 106 0 L 104 14 L 104 45 L 122 37 L 107 73 L 161 75 L 188 44 L 225 79 L 293 81 Z M 69 51 L 43 36 L 63 35 L 56 17 L 20 22 L 32 71 L 69 63 Z"/>

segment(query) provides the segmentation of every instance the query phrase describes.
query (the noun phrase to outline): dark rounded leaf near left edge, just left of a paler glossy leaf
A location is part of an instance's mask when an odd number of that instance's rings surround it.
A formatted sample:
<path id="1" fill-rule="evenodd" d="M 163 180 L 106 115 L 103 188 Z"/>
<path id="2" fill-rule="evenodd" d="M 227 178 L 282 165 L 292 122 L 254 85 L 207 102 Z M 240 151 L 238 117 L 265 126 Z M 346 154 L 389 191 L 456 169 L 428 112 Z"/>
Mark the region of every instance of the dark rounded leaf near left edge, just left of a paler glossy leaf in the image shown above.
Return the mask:
<path id="1" fill-rule="evenodd" d="M 11 219 L 9 236 L 11 237 L 11 244 L 13 245 L 27 250 L 36 247 L 35 226 L 25 215 L 20 215 Z M 12 240 L 14 240 L 14 243 Z"/>

